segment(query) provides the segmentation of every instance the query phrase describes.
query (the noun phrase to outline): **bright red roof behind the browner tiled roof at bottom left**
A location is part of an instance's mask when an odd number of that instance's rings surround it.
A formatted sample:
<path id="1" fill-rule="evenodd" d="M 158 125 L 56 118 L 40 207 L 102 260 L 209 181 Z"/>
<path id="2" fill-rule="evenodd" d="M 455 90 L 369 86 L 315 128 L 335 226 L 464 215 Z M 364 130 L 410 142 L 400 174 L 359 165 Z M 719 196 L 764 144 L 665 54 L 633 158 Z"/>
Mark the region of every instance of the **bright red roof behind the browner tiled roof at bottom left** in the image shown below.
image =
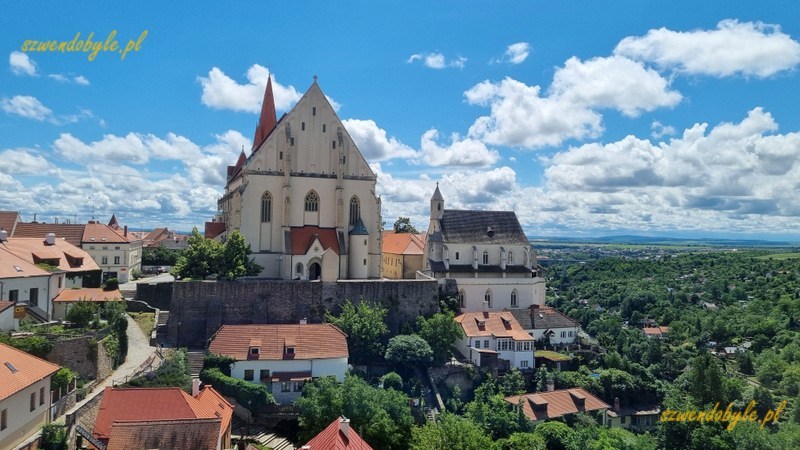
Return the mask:
<path id="1" fill-rule="evenodd" d="M 217 439 L 228 429 L 232 417 L 233 406 L 211 386 L 206 386 L 197 397 L 192 397 L 180 388 L 106 387 L 103 391 L 103 398 L 100 400 L 100 409 L 92 434 L 98 439 L 108 439 L 110 445 L 114 440 L 115 428 L 126 424 L 127 427 L 131 427 L 130 429 L 138 430 L 133 435 L 139 436 L 141 439 L 154 437 L 165 439 L 176 430 L 176 427 L 169 426 L 169 424 L 181 421 L 183 427 L 200 426 L 205 427 L 206 430 L 211 429 L 215 433 L 212 448 L 216 448 Z M 199 421 L 195 422 L 198 419 Z M 156 429 L 160 427 L 161 431 L 153 435 L 147 429 L 155 425 L 158 425 Z M 123 435 L 130 436 L 131 433 L 125 432 Z M 132 446 L 116 448 L 187 447 L 184 447 L 183 443 L 177 446 L 165 446 L 165 443 L 162 442 L 156 447 L 151 444 L 135 443 Z"/>

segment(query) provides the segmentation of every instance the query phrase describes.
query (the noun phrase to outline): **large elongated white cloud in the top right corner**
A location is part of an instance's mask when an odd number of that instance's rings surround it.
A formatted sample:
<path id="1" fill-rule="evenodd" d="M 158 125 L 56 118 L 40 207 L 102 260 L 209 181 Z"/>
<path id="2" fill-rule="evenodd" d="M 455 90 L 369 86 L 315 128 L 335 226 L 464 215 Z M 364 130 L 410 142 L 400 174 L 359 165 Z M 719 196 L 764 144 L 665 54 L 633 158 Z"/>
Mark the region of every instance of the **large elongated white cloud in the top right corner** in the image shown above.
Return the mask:
<path id="1" fill-rule="evenodd" d="M 768 77 L 800 63 L 800 44 L 777 25 L 723 20 L 715 30 L 650 30 L 614 49 L 641 61 L 689 74 Z"/>

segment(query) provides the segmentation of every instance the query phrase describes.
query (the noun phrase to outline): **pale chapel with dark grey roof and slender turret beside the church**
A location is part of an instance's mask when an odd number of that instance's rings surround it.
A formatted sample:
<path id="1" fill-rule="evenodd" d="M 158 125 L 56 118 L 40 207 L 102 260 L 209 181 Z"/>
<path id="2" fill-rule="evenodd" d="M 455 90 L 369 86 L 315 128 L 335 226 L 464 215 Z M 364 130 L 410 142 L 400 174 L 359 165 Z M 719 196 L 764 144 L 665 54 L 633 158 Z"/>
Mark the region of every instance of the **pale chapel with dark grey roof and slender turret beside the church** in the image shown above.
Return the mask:
<path id="1" fill-rule="evenodd" d="M 454 279 L 462 312 L 544 304 L 545 282 L 536 253 L 513 211 L 444 208 L 439 185 L 431 197 L 423 272 L 444 284 Z"/>

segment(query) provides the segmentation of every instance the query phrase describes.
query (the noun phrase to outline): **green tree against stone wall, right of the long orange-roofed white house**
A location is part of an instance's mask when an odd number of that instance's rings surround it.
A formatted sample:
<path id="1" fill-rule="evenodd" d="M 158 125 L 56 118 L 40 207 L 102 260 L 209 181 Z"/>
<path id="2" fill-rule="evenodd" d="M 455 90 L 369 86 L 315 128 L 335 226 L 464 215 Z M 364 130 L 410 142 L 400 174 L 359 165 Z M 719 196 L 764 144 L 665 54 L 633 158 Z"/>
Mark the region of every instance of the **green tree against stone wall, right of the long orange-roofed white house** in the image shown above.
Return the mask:
<path id="1" fill-rule="evenodd" d="M 347 334 L 350 360 L 361 364 L 383 358 L 385 338 L 389 332 L 386 313 L 386 308 L 367 303 L 363 299 L 358 305 L 347 300 L 338 316 L 327 313 L 325 320 Z"/>

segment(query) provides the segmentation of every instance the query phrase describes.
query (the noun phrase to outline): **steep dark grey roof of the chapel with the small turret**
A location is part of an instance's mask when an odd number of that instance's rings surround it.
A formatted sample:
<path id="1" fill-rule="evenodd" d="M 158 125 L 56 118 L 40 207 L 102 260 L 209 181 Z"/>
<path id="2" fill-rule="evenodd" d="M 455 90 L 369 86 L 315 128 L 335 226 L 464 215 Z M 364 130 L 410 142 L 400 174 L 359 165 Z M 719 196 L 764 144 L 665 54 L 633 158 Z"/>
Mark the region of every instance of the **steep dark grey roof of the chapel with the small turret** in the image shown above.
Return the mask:
<path id="1" fill-rule="evenodd" d="M 446 244 L 530 245 L 514 211 L 446 209 L 439 223 Z M 492 236 L 488 233 L 490 228 Z"/>

